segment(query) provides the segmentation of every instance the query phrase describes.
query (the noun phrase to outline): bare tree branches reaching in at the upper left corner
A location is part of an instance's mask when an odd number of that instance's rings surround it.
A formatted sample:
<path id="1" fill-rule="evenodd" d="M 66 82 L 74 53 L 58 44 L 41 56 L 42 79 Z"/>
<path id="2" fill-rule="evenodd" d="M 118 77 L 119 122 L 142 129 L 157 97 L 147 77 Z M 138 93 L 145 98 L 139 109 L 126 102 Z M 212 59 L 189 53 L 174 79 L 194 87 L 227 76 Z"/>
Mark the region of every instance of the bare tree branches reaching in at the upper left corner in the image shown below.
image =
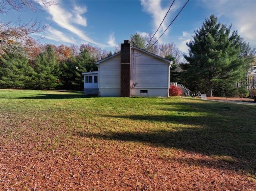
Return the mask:
<path id="1" fill-rule="evenodd" d="M 51 6 L 56 4 L 53 0 L 41 0 L 44 6 Z M 1 0 L 0 1 L 0 13 L 8 13 L 8 10 L 14 9 L 18 12 L 24 11 L 24 8 L 28 8 L 33 12 L 37 12 L 40 9 L 40 5 L 34 0 Z M 25 49 L 31 44 L 28 44 L 30 34 L 44 31 L 48 25 L 41 25 L 41 22 L 37 19 L 30 20 L 27 23 L 21 22 L 18 18 L 16 22 L 9 21 L 7 23 L 0 20 L 0 49 L 1 52 L 18 53 L 22 56 L 29 57 Z M 41 39 L 39 37 L 37 40 Z"/>

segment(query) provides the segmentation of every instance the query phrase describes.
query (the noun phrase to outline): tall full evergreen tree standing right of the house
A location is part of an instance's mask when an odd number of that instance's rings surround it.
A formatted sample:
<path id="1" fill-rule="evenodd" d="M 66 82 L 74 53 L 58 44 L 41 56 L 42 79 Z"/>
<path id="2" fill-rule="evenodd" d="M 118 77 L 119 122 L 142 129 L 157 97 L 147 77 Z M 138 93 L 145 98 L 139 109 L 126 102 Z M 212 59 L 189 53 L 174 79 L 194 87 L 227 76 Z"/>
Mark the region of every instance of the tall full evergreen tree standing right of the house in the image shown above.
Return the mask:
<path id="1" fill-rule="evenodd" d="M 230 34 L 231 26 L 217 23 L 217 19 L 211 15 L 195 31 L 185 56 L 189 62 L 186 74 L 202 79 L 208 85 L 208 96 L 212 96 L 214 84 L 237 81 L 244 66 L 243 57 L 239 57 L 243 39 L 237 32 Z"/>

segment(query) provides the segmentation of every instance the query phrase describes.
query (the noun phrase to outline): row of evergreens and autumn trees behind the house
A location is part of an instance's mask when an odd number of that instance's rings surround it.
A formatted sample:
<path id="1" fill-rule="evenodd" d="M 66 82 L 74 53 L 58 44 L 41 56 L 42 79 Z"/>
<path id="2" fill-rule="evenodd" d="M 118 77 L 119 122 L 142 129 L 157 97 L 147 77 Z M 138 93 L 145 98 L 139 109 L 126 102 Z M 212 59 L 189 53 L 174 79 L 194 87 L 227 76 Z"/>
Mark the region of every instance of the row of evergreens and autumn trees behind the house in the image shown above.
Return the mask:
<path id="1" fill-rule="evenodd" d="M 138 39 L 143 39 L 143 43 L 139 45 Z M 137 33 L 131 35 L 130 41 L 131 45 L 140 48 L 147 43 L 146 37 Z M 2 48 L 2 53 L 0 53 L 0 86 L 2 89 L 82 91 L 84 80 L 82 73 L 97 71 L 95 64 L 97 61 L 120 51 L 120 46 L 107 51 L 89 44 L 42 45 L 32 38 L 29 38 L 26 44 L 22 54 Z M 174 43 L 161 44 L 157 49 L 159 51 L 153 53 L 163 57 L 174 55 L 170 59 L 180 59 L 182 56 L 182 52 Z"/>

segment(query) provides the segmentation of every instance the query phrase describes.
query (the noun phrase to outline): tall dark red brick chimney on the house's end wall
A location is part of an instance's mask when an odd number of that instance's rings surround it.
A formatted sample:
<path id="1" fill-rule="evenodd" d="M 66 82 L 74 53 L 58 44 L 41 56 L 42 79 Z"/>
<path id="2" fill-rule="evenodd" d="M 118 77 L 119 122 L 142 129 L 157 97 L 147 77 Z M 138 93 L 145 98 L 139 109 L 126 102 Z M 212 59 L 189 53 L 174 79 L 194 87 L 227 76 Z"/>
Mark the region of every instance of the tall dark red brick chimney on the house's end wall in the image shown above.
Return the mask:
<path id="1" fill-rule="evenodd" d="M 130 43 L 125 40 L 121 44 L 121 97 L 130 97 Z"/>

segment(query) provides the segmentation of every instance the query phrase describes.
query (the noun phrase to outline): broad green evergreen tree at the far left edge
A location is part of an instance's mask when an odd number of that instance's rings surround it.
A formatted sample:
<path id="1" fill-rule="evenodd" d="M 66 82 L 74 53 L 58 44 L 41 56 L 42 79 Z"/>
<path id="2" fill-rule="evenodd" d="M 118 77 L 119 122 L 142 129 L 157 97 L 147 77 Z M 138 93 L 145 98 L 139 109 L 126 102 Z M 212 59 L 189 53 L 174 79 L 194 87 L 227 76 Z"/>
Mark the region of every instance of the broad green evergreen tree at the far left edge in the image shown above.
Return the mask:
<path id="1" fill-rule="evenodd" d="M 34 85 L 35 75 L 25 57 L 14 53 L 0 56 L 1 88 L 30 89 Z"/>

